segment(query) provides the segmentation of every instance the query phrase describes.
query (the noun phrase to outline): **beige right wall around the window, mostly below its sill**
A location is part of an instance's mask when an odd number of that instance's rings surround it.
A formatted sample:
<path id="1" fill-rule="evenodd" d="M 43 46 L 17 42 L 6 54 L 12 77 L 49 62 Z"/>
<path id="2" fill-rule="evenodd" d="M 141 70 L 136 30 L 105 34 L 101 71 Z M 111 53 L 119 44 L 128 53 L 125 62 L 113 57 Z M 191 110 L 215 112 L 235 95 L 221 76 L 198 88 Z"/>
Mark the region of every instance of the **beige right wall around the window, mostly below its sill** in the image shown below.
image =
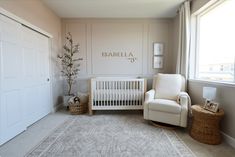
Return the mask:
<path id="1" fill-rule="evenodd" d="M 197 11 L 208 2 L 210 2 L 210 0 L 193 0 L 192 11 Z M 217 101 L 220 103 L 220 107 L 225 110 L 221 129 L 225 134 L 235 139 L 235 85 L 189 80 L 188 92 L 192 98 L 193 104 L 204 104 L 202 92 L 205 86 L 217 88 Z"/>

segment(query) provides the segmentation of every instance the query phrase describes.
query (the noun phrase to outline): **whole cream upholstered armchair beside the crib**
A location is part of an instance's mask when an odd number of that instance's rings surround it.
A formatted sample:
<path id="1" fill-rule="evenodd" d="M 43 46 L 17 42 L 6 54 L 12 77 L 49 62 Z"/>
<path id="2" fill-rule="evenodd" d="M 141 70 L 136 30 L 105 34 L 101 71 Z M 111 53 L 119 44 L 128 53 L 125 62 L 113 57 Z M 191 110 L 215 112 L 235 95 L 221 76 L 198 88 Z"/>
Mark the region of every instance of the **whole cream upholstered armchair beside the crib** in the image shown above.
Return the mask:
<path id="1" fill-rule="evenodd" d="M 153 89 L 146 92 L 144 119 L 181 127 L 187 126 L 190 98 L 185 91 L 185 79 L 179 74 L 157 74 Z"/>

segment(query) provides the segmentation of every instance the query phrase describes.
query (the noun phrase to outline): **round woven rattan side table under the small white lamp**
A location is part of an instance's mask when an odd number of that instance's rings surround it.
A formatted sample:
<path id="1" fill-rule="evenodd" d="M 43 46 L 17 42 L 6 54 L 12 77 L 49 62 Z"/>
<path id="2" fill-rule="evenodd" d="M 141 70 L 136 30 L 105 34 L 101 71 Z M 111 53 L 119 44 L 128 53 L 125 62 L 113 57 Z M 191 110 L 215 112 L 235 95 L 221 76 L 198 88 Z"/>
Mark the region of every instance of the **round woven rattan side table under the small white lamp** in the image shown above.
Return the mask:
<path id="1" fill-rule="evenodd" d="M 220 120 L 224 115 L 222 109 L 212 113 L 199 105 L 192 106 L 193 123 L 190 135 L 199 142 L 206 144 L 221 143 Z"/>

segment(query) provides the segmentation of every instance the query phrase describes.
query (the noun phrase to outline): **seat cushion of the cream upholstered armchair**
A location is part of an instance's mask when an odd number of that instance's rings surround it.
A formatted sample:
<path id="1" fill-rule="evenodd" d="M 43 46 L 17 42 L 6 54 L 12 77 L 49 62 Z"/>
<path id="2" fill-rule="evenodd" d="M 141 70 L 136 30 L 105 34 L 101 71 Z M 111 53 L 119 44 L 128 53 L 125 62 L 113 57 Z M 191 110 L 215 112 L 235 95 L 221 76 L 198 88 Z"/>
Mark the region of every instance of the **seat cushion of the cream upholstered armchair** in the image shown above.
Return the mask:
<path id="1" fill-rule="evenodd" d="M 181 112 L 181 106 L 173 100 L 166 99 L 154 99 L 149 103 L 149 109 L 155 111 L 162 111 L 168 113 L 179 114 Z"/>

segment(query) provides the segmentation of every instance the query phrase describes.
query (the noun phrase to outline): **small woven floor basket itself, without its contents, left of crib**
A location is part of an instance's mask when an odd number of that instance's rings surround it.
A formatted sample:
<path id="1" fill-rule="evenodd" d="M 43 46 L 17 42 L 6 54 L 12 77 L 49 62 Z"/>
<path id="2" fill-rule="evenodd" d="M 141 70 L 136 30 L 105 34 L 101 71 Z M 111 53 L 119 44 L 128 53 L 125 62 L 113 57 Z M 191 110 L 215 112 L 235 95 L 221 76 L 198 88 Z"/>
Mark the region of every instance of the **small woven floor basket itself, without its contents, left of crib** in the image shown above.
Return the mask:
<path id="1" fill-rule="evenodd" d="M 83 114 L 87 112 L 88 105 L 87 103 L 70 103 L 69 111 L 71 114 Z"/>

